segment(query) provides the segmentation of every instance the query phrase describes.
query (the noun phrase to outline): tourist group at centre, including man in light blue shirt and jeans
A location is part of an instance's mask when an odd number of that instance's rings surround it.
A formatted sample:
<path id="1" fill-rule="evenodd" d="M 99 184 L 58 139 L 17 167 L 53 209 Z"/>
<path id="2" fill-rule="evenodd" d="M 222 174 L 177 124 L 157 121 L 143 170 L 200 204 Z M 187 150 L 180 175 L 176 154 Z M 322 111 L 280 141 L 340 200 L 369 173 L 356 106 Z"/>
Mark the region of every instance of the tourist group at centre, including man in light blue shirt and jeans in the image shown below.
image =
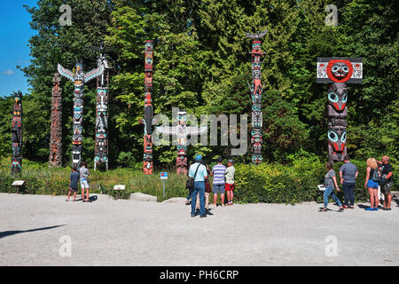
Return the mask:
<path id="1" fill-rule="evenodd" d="M 186 205 L 192 204 L 191 216 L 196 216 L 196 211 L 200 210 L 200 217 L 207 217 L 206 211 L 209 209 L 209 194 L 214 193 L 214 202 L 212 207 L 216 208 L 217 195 L 220 193 L 222 207 L 225 205 L 233 205 L 233 190 L 235 168 L 234 162 L 229 160 L 227 168 L 223 165 L 223 158 L 217 159 L 217 164 L 209 170 L 207 164 L 203 161 L 202 156 L 195 156 L 195 163 L 190 166 L 188 173 L 189 178 L 193 179 L 194 185 L 187 195 Z M 213 190 L 210 186 L 209 177 L 213 176 Z M 227 202 L 224 202 L 224 192 L 227 195 Z"/>

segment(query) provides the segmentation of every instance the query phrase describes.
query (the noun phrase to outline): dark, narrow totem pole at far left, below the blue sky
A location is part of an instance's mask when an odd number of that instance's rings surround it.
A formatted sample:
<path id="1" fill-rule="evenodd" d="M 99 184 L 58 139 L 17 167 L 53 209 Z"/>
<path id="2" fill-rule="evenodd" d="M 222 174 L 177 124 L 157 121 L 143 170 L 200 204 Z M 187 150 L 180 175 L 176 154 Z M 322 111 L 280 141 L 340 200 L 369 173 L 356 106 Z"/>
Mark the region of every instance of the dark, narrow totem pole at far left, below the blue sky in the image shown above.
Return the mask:
<path id="1" fill-rule="evenodd" d="M 22 157 L 22 93 L 14 92 L 14 105 L 12 106 L 12 175 L 21 172 Z"/>

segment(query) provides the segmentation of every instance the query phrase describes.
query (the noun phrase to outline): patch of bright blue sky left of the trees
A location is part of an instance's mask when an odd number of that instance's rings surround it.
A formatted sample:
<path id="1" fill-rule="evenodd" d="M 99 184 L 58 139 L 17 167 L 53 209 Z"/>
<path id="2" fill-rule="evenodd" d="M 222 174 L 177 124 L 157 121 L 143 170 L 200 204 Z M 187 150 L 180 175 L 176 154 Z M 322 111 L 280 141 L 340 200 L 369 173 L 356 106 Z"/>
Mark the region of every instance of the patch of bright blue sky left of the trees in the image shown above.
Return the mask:
<path id="1" fill-rule="evenodd" d="M 26 67 L 29 64 L 30 36 L 36 31 L 29 26 L 30 14 L 22 6 L 35 6 L 36 0 L 7 0 L 0 1 L 0 97 L 12 94 L 12 91 L 27 93 L 27 77 L 16 68 L 17 65 Z"/>

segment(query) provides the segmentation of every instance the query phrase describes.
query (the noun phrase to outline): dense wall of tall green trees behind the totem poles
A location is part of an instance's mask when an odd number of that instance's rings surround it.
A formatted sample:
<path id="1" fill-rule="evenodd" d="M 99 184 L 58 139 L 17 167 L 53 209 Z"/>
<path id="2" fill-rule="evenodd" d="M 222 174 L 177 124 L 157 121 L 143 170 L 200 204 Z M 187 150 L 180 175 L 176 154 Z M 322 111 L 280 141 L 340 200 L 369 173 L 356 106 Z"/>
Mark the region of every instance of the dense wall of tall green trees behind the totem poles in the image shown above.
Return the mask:
<path id="1" fill-rule="evenodd" d="M 72 26 L 59 25 L 59 6 L 72 7 Z M 326 4 L 339 8 L 339 25 L 326 26 Z M 24 96 L 23 156 L 47 161 L 50 140 L 52 76 L 57 64 L 84 70 L 96 67 L 88 48 L 105 41 L 115 47 L 110 82 L 111 166 L 142 161 L 144 45 L 154 40 L 155 114 L 179 106 L 189 114 L 250 114 L 251 41 L 262 39 L 263 159 L 287 162 L 309 152 L 326 159 L 326 91 L 316 83 L 317 57 L 363 57 L 364 83 L 349 85 L 348 154 L 398 156 L 398 9 L 393 1 L 214 1 L 214 0 L 39 0 L 27 7 L 38 34 L 29 44 L 33 59 L 22 71 L 32 88 Z M 63 146 L 71 157 L 73 84 L 62 80 Z M 85 90 L 83 159 L 94 156 L 95 83 Z M 12 100 L 1 99 L 0 153 L 11 153 Z M 7 114 L 9 114 L 8 117 Z M 248 120 L 250 121 L 250 119 Z M 228 146 L 192 146 L 189 154 L 208 160 L 230 153 Z M 173 146 L 155 147 L 155 166 L 175 160 Z M 249 162 L 249 151 L 239 161 Z M 158 161 L 158 162 L 157 162 Z"/>

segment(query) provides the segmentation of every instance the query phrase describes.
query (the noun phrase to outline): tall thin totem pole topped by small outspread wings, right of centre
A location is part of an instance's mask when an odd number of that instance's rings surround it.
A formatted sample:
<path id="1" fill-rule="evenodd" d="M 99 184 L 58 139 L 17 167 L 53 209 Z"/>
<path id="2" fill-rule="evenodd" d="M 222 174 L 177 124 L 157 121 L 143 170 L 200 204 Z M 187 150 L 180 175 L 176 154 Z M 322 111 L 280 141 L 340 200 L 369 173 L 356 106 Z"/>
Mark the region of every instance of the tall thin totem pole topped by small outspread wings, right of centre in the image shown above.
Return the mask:
<path id="1" fill-rule="evenodd" d="M 267 30 L 262 33 L 248 34 L 246 37 L 253 39 L 251 54 L 252 83 L 249 85 L 252 98 L 252 131 L 251 131 L 251 150 L 252 162 L 260 164 L 262 162 L 262 42 L 260 39 L 266 36 Z"/>

